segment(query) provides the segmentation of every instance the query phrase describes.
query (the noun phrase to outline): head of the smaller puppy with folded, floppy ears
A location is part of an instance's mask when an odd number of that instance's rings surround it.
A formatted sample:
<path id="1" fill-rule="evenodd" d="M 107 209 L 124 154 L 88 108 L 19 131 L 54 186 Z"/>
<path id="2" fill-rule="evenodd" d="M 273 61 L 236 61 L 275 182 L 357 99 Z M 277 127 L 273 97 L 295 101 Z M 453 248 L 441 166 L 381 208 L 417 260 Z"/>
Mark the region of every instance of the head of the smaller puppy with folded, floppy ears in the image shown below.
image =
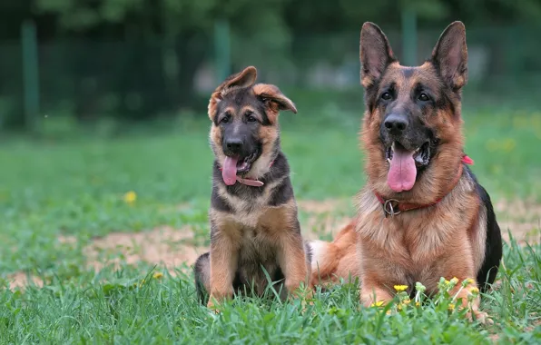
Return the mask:
<path id="1" fill-rule="evenodd" d="M 236 176 L 257 179 L 269 171 L 280 151 L 278 114 L 297 113 L 295 104 L 271 84 L 254 84 L 255 67 L 228 77 L 211 95 L 211 148 L 223 181 Z"/>

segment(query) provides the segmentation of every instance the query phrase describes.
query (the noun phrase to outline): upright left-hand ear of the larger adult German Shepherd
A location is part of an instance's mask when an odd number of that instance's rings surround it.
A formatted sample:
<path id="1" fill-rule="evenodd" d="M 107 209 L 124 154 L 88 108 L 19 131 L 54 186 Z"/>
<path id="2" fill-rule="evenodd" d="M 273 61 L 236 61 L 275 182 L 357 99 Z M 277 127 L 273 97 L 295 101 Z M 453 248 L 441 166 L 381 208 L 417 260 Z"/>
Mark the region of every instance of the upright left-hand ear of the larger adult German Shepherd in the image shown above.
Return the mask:
<path id="1" fill-rule="evenodd" d="M 396 61 L 387 36 L 378 25 L 367 22 L 360 30 L 360 84 L 376 84 L 389 64 Z"/>

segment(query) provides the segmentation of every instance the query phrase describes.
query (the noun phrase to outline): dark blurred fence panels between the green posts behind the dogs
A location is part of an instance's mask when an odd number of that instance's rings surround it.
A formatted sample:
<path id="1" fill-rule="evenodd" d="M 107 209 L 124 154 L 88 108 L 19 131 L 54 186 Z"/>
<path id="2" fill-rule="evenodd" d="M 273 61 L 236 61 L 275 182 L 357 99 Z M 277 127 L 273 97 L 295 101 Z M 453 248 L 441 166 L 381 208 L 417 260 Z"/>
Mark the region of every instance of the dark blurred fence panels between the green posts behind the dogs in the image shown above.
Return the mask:
<path id="1" fill-rule="evenodd" d="M 441 28 L 418 32 L 418 62 L 428 58 Z M 401 35 L 386 31 L 403 55 Z M 467 93 L 536 103 L 541 87 L 541 30 L 532 27 L 468 27 Z M 250 41 L 231 35 L 231 70 L 253 64 L 260 80 L 283 89 L 360 92 L 359 32 L 287 36 Z M 182 42 L 57 41 L 38 45 L 40 113 L 150 118 L 202 106 L 223 71 L 214 68 L 215 40 L 190 48 Z M 183 49 L 182 49 L 183 48 Z M 191 54 L 197 51 L 197 54 Z M 23 53 L 20 42 L 0 43 L 0 125 L 24 122 Z M 221 73 L 219 73 L 221 72 Z M 26 85 L 32 87 L 33 85 Z M 528 101 L 529 100 L 529 101 Z M 358 106 L 357 100 L 340 106 Z M 204 108 L 200 108 L 204 109 Z"/>

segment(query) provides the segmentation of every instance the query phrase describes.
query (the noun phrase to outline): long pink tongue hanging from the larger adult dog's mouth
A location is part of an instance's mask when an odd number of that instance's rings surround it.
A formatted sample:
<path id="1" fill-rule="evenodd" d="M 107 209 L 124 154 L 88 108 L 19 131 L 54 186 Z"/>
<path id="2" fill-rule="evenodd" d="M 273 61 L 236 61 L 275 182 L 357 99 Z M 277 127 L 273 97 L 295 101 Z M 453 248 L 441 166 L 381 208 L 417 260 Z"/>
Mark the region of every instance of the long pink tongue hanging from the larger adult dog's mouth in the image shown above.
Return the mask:
<path id="1" fill-rule="evenodd" d="M 395 147 L 393 158 L 390 160 L 387 184 L 395 192 L 409 191 L 415 184 L 417 168 L 413 159 L 413 151 Z"/>

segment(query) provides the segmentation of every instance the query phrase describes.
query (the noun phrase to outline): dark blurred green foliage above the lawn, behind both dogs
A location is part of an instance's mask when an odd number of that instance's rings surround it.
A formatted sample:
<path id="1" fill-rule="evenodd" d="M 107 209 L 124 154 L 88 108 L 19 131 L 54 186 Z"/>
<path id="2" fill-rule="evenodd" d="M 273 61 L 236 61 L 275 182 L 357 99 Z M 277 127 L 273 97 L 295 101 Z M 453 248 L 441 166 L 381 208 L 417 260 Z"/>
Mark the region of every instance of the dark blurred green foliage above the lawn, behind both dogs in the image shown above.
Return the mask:
<path id="1" fill-rule="evenodd" d="M 538 0 L 3 0 L 0 128 L 24 123 L 17 41 L 27 18 L 38 28 L 43 111 L 93 121 L 201 112 L 218 83 L 217 21 L 230 25 L 231 72 L 255 64 L 262 79 L 286 89 L 358 87 L 360 26 L 380 25 L 400 56 L 405 10 L 417 14 L 419 57 L 448 23 L 462 20 L 468 44 L 484 50 L 474 49 L 473 59 L 491 56 L 471 68 L 491 76 L 486 85 L 526 89 L 523 77 L 541 71 Z"/>

